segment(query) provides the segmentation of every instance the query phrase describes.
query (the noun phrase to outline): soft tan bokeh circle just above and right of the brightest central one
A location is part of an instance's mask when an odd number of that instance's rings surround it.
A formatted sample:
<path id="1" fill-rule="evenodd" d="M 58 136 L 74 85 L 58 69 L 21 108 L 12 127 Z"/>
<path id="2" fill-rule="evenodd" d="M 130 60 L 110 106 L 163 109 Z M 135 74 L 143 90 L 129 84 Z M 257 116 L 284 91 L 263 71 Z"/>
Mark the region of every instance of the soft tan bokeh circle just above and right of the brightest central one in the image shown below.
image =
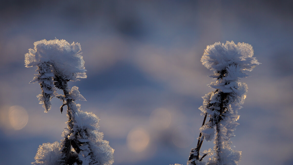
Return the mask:
<path id="1" fill-rule="evenodd" d="M 151 113 L 149 120 L 154 128 L 166 129 L 171 123 L 171 113 L 165 108 L 158 108 Z"/>

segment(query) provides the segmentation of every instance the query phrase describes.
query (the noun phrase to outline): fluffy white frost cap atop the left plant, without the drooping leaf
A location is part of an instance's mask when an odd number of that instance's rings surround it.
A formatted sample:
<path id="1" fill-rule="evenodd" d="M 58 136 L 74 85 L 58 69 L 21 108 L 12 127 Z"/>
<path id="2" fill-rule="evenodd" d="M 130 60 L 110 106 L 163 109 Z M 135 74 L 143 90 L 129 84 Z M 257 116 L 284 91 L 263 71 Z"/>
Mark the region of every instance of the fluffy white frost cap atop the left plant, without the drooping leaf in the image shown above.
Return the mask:
<path id="1" fill-rule="evenodd" d="M 34 49 L 25 54 L 25 66 L 38 66 L 41 63 L 53 65 L 64 79 L 76 81 L 86 78 L 84 59 L 79 43 L 69 44 L 66 40 L 40 40 L 34 43 Z"/>

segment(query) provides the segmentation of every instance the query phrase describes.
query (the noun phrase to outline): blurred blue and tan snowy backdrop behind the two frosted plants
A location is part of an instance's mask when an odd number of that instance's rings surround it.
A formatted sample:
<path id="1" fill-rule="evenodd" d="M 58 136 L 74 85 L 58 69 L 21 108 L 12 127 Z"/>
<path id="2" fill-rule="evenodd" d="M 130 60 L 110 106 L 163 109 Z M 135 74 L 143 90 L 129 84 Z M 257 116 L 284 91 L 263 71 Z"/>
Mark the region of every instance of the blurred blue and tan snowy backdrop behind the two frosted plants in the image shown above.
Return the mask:
<path id="1" fill-rule="evenodd" d="M 253 46 L 262 64 L 241 82 L 234 149 L 240 165 L 293 164 L 292 1 L 0 1 L 0 155 L 28 165 L 38 146 L 60 141 L 62 103 L 44 113 L 36 67 L 24 55 L 42 39 L 79 42 L 86 79 L 71 82 L 100 117 L 115 165 L 186 164 L 212 91 L 200 58 L 207 45 L 233 40 Z M 203 150 L 213 147 L 204 142 Z M 207 160 L 207 159 L 205 159 Z"/>

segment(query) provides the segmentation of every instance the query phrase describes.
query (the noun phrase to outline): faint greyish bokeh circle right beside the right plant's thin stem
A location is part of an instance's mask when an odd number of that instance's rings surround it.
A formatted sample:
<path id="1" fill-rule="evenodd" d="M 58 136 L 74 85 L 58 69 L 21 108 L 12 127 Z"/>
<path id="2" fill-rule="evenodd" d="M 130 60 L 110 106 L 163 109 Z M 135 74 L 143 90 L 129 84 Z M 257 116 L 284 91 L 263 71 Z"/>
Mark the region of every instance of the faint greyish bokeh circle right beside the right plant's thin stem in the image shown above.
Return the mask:
<path id="1" fill-rule="evenodd" d="M 174 129 L 172 133 L 173 143 L 179 148 L 186 148 L 192 144 L 194 140 L 194 131 L 187 125 L 181 125 Z"/>

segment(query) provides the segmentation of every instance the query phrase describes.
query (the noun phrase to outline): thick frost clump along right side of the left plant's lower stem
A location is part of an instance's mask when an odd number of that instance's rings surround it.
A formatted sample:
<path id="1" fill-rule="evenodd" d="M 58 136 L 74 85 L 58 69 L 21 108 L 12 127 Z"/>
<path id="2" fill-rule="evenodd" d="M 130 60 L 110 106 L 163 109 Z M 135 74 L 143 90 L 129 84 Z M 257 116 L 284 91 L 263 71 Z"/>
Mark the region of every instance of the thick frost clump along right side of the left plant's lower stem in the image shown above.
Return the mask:
<path id="1" fill-rule="evenodd" d="M 74 126 L 69 139 L 76 139 L 83 145 L 80 147 L 81 152 L 78 154 L 79 159 L 83 162 L 92 164 L 98 161 L 99 164 L 108 165 L 113 164 L 113 152 L 107 140 L 103 140 L 103 132 L 99 132 L 99 118 L 93 113 L 83 112 L 80 105 L 77 104 L 77 110 L 74 115 Z M 78 135 L 78 136 L 76 136 Z M 85 157 L 91 152 L 91 157 Z M 94 161 L 93 161 L 94 160 Z M 92 162 L 92 163 L 91 163 Z M 86 165 L 88 165 L 86 163 Z"/>

